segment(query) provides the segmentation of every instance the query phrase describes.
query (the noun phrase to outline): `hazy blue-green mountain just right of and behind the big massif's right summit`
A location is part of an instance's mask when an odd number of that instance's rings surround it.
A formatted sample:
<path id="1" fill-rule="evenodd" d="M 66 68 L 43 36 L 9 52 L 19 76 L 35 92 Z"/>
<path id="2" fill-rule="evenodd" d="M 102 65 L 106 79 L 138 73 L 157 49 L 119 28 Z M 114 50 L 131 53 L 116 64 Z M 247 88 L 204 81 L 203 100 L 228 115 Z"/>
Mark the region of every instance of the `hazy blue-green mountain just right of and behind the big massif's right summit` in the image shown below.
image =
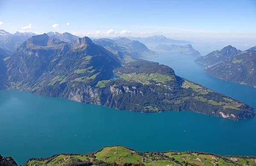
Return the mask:
<path id="1" fill-rule="evenodd" d="M 95 39 L 93 42 L 111 51 L 120 59 L 128 58 L 127 56 L 137 59 L 143 56 L 154 56 L 154 52 L 150 51 L 143 43 L 125 37 L 117 37 L 113 40 L 106 38 Z"/>

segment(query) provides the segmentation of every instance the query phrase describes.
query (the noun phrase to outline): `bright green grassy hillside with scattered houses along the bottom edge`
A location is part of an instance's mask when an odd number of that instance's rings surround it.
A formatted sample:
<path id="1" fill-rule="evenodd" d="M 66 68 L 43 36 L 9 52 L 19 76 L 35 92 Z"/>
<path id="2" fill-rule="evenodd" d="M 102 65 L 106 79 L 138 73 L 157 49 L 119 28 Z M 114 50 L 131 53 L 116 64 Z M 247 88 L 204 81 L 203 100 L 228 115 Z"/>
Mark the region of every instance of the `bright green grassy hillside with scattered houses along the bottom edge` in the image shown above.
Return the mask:
<path id="1" fill-rule="evenodd" d="M 24 166 L 255 166 L 255 156 L 215 155 L 205 152 L 139 152 L 125 146 L 107 146 L 87 154 L 56 154 L 29 158 Z"/>

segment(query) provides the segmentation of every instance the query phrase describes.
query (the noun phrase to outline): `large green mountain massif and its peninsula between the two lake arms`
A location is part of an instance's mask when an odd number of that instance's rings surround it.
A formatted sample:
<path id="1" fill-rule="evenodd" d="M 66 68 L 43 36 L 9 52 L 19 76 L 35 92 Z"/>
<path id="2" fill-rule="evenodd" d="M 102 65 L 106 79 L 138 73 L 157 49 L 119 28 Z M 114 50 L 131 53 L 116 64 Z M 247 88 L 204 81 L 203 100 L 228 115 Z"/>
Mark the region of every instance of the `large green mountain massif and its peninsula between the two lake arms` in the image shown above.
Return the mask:
<path id="1" fill-rule="evenodd" d="M 125 38 L 114 43 L 147 51 Z M 1 62 L 4 89 L 143 113 L 190 110 L 235 120 L 255 115 L 249 105 L 182 79 L 168 66 L 139 59 L 124 63 L 88 37 L 67 43 L 33 36 Z"/>

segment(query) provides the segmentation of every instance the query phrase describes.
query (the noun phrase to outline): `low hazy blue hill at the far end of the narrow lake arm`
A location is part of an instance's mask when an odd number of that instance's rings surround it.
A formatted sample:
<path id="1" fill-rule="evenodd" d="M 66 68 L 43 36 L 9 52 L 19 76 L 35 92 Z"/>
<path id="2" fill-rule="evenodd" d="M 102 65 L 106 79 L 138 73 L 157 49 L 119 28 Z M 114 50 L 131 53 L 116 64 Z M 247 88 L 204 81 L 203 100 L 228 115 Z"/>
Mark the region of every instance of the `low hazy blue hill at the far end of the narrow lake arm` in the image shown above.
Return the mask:
<path id="1" fill-rule="evenodd" d="M 157 45 L 155 48 L 159 52 L 176 52 L 176 53 L 184 53 L 192 56 L 201 56 L 199 51 L 196 51 L 195 49 L 192 48 L 192 45 L 165 45 L 165 44 L 160 44 Z"/>

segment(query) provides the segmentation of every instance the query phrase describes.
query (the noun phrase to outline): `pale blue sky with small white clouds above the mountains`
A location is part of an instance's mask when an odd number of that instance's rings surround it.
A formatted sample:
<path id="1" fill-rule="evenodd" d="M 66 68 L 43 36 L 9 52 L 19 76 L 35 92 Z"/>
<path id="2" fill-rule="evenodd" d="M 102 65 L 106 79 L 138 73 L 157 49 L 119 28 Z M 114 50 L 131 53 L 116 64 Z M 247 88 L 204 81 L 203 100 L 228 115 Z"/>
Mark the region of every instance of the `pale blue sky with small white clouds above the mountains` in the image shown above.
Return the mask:
<path id="1" fill-rule="evenodd" d="M 0 29 L 253 40 L 256 0 L 0 0 Z"/>

